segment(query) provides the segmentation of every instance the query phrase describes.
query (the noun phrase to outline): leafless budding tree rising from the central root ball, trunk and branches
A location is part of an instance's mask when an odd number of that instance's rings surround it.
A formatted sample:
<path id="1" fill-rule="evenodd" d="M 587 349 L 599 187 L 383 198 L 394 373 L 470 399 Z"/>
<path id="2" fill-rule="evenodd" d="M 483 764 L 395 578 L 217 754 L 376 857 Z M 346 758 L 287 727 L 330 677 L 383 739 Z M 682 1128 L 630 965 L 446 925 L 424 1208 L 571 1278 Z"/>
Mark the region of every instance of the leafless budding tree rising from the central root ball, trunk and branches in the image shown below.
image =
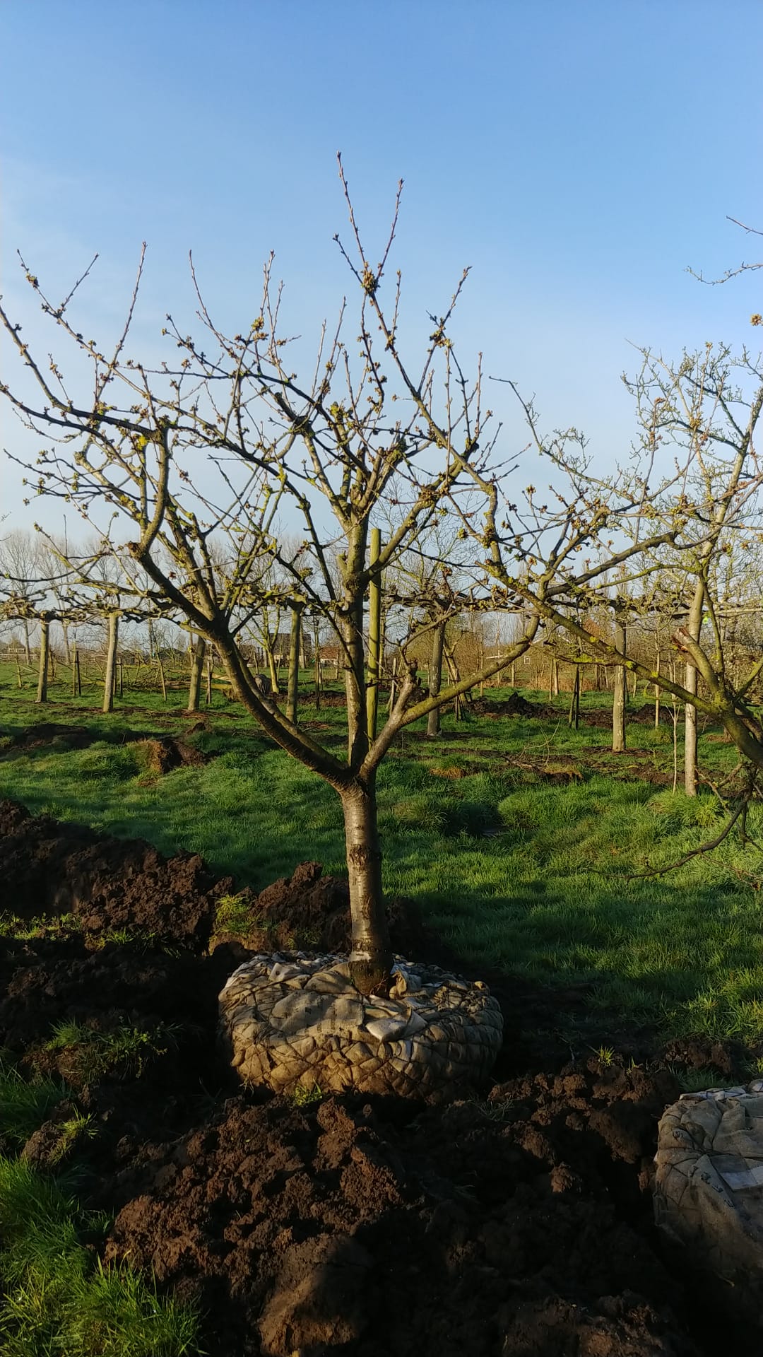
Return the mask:
<path id="1" fill-rule="evenodd" d="M 466 273 L 449 305 L 429 318 L 424 356 L 414 369 L 402 351 L 399 274 L 388 297 L 384 289 L 396 209 L 380 262 L 372 265 L 343 174 L 342 183 L 352 247 L 339 243 L 339 248 L 354 280 L 358 316 L 352 339 L 345 339 L 342 307 L 337 327 L 322 334 L 307 380 L 292 369 L 282 296 L 270 263 L 259 312 L 246 332 L 229 335 L 215 322 L 191 262 L 202 337 L 194 338 L 168 318 L 166 335 L 176 358 L 155 370 L 128 356 L 143 258 L 125 327 L 109 353 L 83 338 L 72 315 L 90 270 L 61 305 L 26 270 L 48 320 L 80 364 L 90 361 L 92 389 L 77 399 L 69 394 L 58 360 L 52 369 L 37 361 L 1 308 L 0 319 L 37 384 L 35 396 L 10 385 L 3 391 L 45 440 L 34 467 L 38 491 L 73 501 L 98 524 L 113 552 L 132 563 L 125 566 L 132 597 L 157 611 L 174 611 L 213 645 L 239 699 L 263 730 L 337 791 L 350 886 L 350 972 L 357 988 L 372 993 L 386 989 L 391 968 L 376 773 L 392 741 L 405 726 L 510 665 L 546 622 L 569 626 L 570 609 L 577 617 L 580 604 L 595 594 L 608 570 L 637 550 L 646 559 L 661 544 L 676 541 L 687 514 L 676 510 L 669 521 L 656 518 L 654 531 L 638 548 L 633 540 L 612 546 L 612 527 L 622 532 L 634 514 L 657 506 L 676 476 L 661 478 L 654 490 L 644 478 L 622 474 L 596 490 L 580 440 L 581 456 L 570 455 L 569 440 L 551 448 L 565 489 L 550 506 L 532 486 L 519 506 L 510 502 L 504 486 L 516 459 L 498 460 L 498 429 L 483 407 L 479 365 L 467 379 L 449 332 Z M 534 411 L 524 408 L 534 430 Z M 548 453 L 540 442 L 538 451 Z M 396 525 L 371 560 L 372 520 L 388 522 L 392 509 Z M 468 569 L 459 559 L 458 578 L 448 575 L 451 560 L 437 562 L 440 585 L 447 579 L 447 588 L 410 609 L 407 631 L 398 638 L 403 664 L 395 697 L 373 737 L 367 714 L 373 680 L 367 670 L 364 608 L 371 588 L 443 510 L 455 522 L 455 540 L 470 540 L 477 550 Z M 292 532 L 301 521 L 293 554 L 278 540 L 276 516 L 281 512 L 291 516 Z M 109 524 L 103 524 L 105 514 L 113 516 Z M 578 562 L 582 548 L 596 559 Z M 215 551 L 228 560 L 224 573 Z M 274 582 L 262 573 L 263 560 L 277 566 Z M 631 571 L 633 578 L 639 569 Z M 140 585 L 138 573 L 147 586 Z M 262 691 L 244 658 L 242 631 L 258 608 L 295 598 L 320 619 L 342 657 L 345 759 L 289 719 Z M 462 613 L 501 609 L 519 619 L 515 642 L 477 674 L 426 695 L 413 658 L 415 643 Z M 606 660 L 612 662 L 611 650 Z"/>

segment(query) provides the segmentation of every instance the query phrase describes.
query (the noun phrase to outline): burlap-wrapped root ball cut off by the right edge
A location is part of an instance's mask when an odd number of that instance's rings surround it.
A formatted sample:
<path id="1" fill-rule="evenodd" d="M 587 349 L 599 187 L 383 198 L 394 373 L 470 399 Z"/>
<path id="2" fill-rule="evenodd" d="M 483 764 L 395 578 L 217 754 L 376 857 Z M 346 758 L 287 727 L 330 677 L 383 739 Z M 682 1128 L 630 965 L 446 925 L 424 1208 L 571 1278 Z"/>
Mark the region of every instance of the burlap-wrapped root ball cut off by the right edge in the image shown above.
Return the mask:
<path id="1" fill-rule="evenodd" d="M 763 1080 L 683 1094 L 660 1121 L 654 1163 L 665 1242 L 763 1326 Z"/>

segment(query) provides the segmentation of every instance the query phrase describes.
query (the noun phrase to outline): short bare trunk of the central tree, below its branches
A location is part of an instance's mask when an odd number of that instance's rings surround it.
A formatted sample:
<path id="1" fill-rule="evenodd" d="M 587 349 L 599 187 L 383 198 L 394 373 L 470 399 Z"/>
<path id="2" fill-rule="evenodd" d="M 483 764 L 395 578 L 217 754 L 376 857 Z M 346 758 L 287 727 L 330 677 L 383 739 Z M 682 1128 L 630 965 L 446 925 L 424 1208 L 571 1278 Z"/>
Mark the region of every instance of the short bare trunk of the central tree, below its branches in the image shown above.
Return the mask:
<path id="1" fill-rule="evenodd" d="M 392 953 L 382 894 L 376 773 L 341 792 L 350 885 L 350 977 L 361 995 L 386 993 Z"/>

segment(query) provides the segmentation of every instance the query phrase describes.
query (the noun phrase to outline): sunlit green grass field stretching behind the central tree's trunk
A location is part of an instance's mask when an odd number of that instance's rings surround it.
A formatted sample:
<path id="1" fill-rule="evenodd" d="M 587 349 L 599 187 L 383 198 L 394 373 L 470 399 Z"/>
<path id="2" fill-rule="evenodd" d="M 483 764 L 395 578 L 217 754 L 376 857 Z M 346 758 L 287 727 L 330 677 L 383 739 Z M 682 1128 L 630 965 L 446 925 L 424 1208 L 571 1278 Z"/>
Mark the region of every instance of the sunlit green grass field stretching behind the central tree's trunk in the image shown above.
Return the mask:
<path id="1" fill-rule="evenodd" d="M 305 858 L 342 871 L 335 794 L 219 693 L 205 729 L 189 735 L 209 760 L 152 778 L 143 746 L 126 737 L 185 733 L 193 722 L 182 693 L 164 704 L 130 692 L 103 716 L 95 685 L 76 702 L 52 685 L 38 707 L 31 676 L 18 688 L 8 668 L 0 683 L 1 795 L 141 836 L 166 854 L 201 852 L 217 873 L 255 889 Z M 565 702 L 558 719 L 456 725 L 447 715 L 440 741 L 405 733 L 379 778 L 386 890 L 414 900 L 470 963 L 547 987 L 587 987 L 597 1030 L 736 1037 L 763 1053 L 763 855 L 732 836 L 713 855 L 638 878 L 713 837 L 724 821 L 720 801 L 710 790 L 694 801 L 672 791 L 669 726 L 634 723 L 629 750 L 614 756 L 606 727 L 567 729 Z M 585 693 L 584 714 L 607 702 Z M 316 714 L 305 702 L 301 719 L 319 723 L 322 738 L 342 740 L 341 708 Z M 92 742 L 75 749 L 62 734 L 19 746 L 35 722 L 86 725 Z M 734 749 L 706 731 L 705 772 L 717 780 L 734 764 Z M 749 830 L 763 833 L 758 807 Z"/>

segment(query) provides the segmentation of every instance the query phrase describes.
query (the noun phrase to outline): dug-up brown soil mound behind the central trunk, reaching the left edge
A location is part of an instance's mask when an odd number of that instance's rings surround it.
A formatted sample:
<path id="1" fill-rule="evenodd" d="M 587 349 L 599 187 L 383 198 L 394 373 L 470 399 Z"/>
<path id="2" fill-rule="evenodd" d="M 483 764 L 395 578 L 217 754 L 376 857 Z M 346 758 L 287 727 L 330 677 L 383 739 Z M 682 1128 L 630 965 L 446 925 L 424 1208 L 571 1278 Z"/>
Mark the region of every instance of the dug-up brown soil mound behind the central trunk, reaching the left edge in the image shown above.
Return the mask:
<path id="1" fill-rule="evenodd" d="M 96 938 L 126 930 L 196 950 L 212 936 L 236 938 L 251 951 L 350 950 L 348 882 L 324 877 L 318 862 L 301 863 L 259 896 L 235 894 L 234 879 L 216 878 L 198 854 L 164 858 L 143 840 L 30 816 L 11 801 L 0 801 L 0 909 L 23 919 L 72 913 Z M 224 909 L 232 898 L 243 906 L 235 930 Z M 414 908 L 391 900 L 388 916 L 395 951 L 418 955 L 424 930 Z"/>

